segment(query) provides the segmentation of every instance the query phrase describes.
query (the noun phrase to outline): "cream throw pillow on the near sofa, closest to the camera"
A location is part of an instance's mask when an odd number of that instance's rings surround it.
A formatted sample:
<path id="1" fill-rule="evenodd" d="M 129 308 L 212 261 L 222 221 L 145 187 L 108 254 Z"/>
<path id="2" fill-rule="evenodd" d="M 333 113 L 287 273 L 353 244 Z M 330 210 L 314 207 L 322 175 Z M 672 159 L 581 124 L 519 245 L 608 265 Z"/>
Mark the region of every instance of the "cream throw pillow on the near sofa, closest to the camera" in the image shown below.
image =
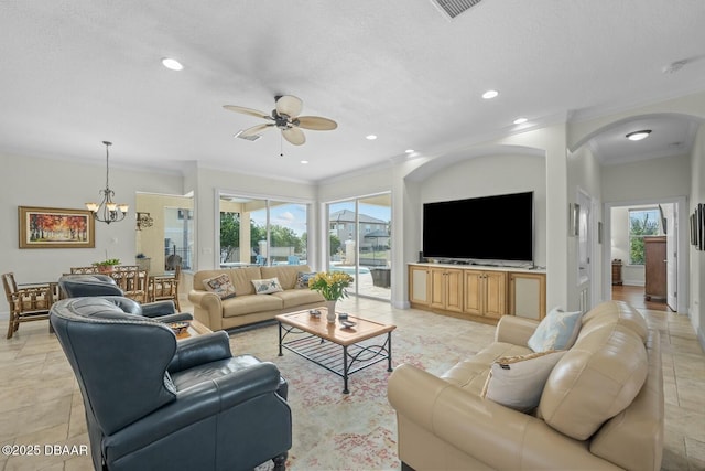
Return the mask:
<path id="1" fill-rule="evenodd" d="M 549 375 L 565 351 L 498 358 L 490 366 L 481 397 L 528 413 L 539 406 Z"/>

